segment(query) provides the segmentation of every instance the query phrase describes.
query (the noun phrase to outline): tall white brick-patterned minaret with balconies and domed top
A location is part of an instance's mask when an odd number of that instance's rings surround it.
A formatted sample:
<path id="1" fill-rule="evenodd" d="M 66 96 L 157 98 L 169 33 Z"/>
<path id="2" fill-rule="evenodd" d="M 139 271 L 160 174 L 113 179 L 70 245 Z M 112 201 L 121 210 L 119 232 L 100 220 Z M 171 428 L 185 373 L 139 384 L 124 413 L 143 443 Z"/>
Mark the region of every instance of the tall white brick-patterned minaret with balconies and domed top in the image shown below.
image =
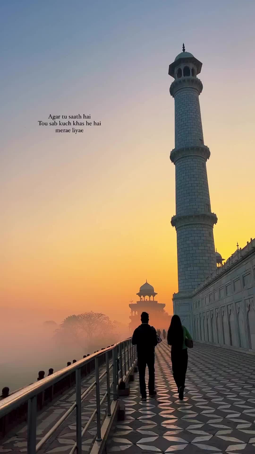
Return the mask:
<path id="1" fill-rule="evenodd" d="M 175 102 L 175 148 L 170 159 L 176 172 L 176 215 L 171 223 L 177 232 L 179 292 L 173 296 L 174 306 L 216 271 L 213 225 L 217 217 L 211 212 L 206 172 L 210 150 L 204 145 L 198 98 L 203 85 L 196 77 L 201 66 L 183 44 L 168 72 L 174 78 L 170 94 Z"/>

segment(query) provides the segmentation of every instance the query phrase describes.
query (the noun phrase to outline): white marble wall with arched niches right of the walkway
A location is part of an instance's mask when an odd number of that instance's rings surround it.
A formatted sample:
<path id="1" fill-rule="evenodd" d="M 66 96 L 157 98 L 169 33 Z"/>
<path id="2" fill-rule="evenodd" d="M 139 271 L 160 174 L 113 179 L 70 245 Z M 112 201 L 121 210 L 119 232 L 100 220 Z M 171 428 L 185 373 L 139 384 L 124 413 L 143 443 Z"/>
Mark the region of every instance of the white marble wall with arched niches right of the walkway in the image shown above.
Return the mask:
<path id="1" fill-rule="evenodd" d="M 194 339 L 255 352 L 255 250 L 250 252 L 193 295 Z"/>

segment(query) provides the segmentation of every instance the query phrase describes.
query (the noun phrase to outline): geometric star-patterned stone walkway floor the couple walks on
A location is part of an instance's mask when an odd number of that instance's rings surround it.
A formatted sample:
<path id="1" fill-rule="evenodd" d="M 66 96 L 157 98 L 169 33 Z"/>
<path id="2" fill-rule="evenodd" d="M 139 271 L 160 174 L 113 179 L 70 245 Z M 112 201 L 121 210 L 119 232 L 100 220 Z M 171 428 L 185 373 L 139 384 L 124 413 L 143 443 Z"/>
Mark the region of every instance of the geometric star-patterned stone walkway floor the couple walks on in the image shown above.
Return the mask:
<path id="1" fill-rule="evenodd" d="M 157 399 L 141 402 L 135 374 L 107 453 L 255 454 L 255 356 L 195 343 L 180 401 L 166 341 L 155 352 Z"/>

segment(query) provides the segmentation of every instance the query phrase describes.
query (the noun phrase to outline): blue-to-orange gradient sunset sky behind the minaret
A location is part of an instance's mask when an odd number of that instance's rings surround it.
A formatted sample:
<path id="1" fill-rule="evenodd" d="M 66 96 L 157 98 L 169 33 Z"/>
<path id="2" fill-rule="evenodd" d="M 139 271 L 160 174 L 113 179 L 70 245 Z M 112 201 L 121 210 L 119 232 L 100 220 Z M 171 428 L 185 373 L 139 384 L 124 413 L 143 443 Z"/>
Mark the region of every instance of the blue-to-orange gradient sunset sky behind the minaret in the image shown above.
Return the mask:
<path id="1" fill-rule="evenodd" d="M 0 10 L 2 314 L 59 322 L 97 310 L 128 322 L 146 279 L 172 313 L 168 66 L 183 42 L 203 64 L 214 238 L 228 258 L 255 237 L 255 2 L 9 0 Z M 101 126 L 57 134 L 37 123 L 49 114 Z"/>

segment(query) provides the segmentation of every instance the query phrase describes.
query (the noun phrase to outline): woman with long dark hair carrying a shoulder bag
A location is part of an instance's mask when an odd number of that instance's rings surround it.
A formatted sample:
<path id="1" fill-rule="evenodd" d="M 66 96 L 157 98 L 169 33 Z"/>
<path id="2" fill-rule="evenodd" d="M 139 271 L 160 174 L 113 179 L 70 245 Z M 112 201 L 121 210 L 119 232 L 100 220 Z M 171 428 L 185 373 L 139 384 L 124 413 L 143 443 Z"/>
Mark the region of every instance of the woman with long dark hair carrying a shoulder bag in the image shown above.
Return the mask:
<path id="1" fill-rule="evenodd" d="M 188 365 L 188 352 L 185 342 L 186 339 L 192 341 L 189 331 L 185 328 L 185 326 L 181 325 L 180 317 L 173 315 L 167 332 L 167 344 L 171 345 L 173 378 L 178 388 L 180 400 L 183 400 Z"/>

